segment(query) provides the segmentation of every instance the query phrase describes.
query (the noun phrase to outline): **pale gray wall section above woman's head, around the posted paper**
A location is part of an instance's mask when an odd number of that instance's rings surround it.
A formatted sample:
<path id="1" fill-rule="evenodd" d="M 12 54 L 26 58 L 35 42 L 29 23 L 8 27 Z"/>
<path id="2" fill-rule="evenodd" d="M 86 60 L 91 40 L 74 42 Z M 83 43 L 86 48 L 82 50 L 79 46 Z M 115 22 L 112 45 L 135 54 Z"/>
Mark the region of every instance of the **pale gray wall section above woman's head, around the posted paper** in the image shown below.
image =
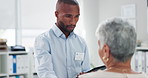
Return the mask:
<path id="1" fill-rule="evenodd" d="M 99 22 L 108 17 L 121 16 L 121 6 L 136 5 L 136 29 L 138 40 L 148 40 L 147 0 L 99 0 Z"/>

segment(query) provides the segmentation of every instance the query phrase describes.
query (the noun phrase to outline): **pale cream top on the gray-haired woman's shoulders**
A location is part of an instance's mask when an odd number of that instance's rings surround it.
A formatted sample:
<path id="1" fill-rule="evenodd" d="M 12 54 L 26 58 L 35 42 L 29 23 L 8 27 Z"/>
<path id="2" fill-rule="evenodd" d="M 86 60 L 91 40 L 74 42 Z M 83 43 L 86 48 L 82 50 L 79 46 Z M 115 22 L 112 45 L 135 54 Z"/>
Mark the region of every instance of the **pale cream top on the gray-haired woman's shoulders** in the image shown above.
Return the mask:
<path id="1" fill-rule="evenodd" d="M 87 74 L 80 75 L 78 78 L 148 78 L 145 73 L 141 74 L 123 74 L 106 71 L 96 71 Z"/>

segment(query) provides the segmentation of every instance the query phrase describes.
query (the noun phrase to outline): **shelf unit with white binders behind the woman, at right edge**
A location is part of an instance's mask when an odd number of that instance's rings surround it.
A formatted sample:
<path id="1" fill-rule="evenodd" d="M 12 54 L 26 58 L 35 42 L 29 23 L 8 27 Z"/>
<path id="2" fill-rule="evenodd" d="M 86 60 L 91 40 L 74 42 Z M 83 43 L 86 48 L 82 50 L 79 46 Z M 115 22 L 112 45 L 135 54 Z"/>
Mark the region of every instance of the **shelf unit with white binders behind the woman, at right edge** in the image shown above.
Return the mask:
<path id="1" fill-rule="evenodd" d="M 131 62 L 132 69 L 148 74 L 148 47 L 137 47 Z"/>

